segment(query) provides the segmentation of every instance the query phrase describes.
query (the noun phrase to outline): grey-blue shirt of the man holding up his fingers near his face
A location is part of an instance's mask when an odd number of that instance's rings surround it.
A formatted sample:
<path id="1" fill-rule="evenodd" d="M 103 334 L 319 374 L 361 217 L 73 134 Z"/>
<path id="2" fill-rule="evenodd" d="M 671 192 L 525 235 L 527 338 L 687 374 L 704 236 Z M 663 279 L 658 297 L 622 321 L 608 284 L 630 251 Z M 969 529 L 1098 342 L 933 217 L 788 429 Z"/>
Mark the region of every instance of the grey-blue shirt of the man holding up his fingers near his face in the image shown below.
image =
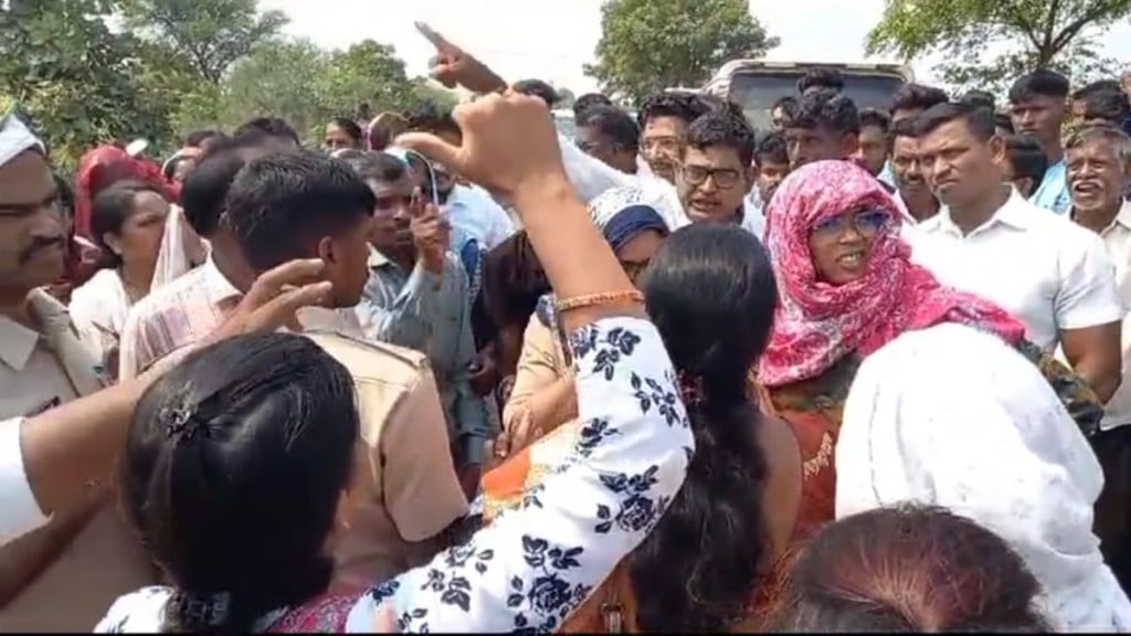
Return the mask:
<path id="1" fill-rule="evenodd" d="M 443 273 L 416 264 L 411 270 L 370 252 L 370 275 L 355 312 L 365 337 L 428 354 L 440 403 L 457 446 L 457 463 L 482 464 L 483 442 L 494 437 L 487 404 L 470 385 L 475 338 L 472 296 L 459 258 L 449 252 Z"/>

